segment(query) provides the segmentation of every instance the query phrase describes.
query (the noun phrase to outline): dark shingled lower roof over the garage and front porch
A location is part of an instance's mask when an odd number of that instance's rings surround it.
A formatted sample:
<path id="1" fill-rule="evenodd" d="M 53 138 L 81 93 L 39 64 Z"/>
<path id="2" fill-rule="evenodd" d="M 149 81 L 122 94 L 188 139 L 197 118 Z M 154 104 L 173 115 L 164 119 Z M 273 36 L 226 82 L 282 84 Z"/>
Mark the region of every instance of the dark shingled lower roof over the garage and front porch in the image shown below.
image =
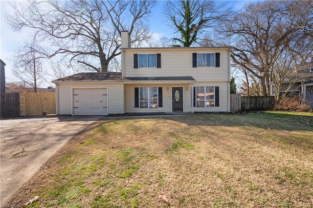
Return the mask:
<path id="1" fill-rule="evenodd" d="M 85 72 L 70 75 L 64 78 L 53 80 L 52 83 L 59 82 L 140 82 L 140 81 L 195 81 L 193 77 L 122 77 L 120 72 Z"/>

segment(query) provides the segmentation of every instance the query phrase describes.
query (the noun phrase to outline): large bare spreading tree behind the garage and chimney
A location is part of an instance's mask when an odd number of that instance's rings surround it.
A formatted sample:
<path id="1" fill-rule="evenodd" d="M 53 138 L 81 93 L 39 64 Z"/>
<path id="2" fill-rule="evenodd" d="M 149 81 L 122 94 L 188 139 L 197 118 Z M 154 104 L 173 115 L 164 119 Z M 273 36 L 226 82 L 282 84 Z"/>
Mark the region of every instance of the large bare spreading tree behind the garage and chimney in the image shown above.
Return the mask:
<path id="1" fill-rule="evenodd" d="M 69 65 L 80 63 L 89 70 L 107 72 L 120 55 L 120 33 L 128 30 L 139 46 L 150 38 L 146 18 L 156 4 L 153 0 L 30 0 L 12 2 L 15 13 L 7 20 L 15 30 L 25 27 L 37 32 L 50 47 L 47 57 L 69 57 Z"/>

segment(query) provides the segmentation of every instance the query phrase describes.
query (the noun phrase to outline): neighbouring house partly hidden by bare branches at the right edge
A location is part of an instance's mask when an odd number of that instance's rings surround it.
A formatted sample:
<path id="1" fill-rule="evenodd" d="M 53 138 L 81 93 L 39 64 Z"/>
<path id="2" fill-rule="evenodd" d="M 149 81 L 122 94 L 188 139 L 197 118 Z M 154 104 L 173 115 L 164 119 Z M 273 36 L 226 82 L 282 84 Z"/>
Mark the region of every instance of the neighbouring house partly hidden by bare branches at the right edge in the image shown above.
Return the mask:
<path id="1" fill-rule="evenodd" d="M 288 89 L 289 93 L 294 93 L 298 95 L 303 95 L 303 98 L 309 102 L 311 102 L 311 106 L 313 107 L 313 62 L 304 63 L 301 65 L 295 66 L 296 70 L 300 73 Z M 295 70 L 295 69 L 291 69 Z M 285 93 L 287 88 L 289 88 L 289 81 L 286 81 L 286 84 L 282 87 L 282 90 L 279 93 Z M 273 96 L 275 93 L 278 93 L 274 89 L 274 84 L 270 83 L 270 95 Z"/>

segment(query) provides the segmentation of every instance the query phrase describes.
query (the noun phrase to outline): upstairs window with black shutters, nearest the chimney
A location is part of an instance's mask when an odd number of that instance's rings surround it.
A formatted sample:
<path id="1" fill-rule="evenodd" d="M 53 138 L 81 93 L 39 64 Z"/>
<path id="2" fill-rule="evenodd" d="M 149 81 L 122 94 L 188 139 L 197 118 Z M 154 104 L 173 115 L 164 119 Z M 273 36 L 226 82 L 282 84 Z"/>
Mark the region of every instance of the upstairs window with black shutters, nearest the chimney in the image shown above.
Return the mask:
<path id="1" fill-rule="evenodd" d="M 161 68 L 161 54 L 134 54 L 134 68 Z"/>

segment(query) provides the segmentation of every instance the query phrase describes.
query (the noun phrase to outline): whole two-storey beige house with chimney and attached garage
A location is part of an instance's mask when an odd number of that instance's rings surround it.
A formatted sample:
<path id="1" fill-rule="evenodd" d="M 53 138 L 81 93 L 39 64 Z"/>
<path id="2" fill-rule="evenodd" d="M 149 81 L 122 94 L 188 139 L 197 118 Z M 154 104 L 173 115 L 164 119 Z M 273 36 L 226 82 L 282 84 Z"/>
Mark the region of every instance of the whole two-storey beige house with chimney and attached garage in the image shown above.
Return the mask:
<path id="1" fill-rule="evenodd" d="M 52 81 L 57 114 L 229 112 L 231 47 L 132 48 L 121 34 L 121 73 Z"/>

